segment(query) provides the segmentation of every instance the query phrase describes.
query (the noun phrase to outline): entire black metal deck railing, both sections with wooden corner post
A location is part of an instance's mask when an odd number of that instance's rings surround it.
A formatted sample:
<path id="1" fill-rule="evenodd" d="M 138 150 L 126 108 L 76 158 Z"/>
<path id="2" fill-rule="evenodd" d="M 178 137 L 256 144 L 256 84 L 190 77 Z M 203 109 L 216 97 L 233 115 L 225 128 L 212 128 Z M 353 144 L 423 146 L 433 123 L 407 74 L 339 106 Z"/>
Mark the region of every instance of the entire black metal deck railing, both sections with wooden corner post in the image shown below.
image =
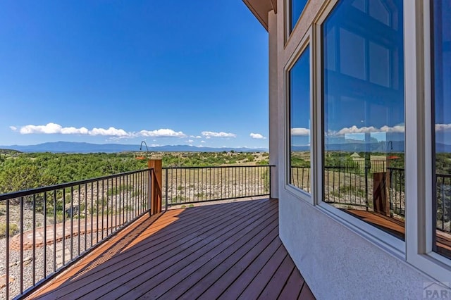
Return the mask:
<path id="1" fill-rule="evenodd" d="M 6 216 L 0 299 L 27 294 L 144 213 L 158 213 L 161 201 L 168 208 L 271 194 L 270 165 L 160 171 L 161 163 L 155 169 L 0 195 Z"/>

